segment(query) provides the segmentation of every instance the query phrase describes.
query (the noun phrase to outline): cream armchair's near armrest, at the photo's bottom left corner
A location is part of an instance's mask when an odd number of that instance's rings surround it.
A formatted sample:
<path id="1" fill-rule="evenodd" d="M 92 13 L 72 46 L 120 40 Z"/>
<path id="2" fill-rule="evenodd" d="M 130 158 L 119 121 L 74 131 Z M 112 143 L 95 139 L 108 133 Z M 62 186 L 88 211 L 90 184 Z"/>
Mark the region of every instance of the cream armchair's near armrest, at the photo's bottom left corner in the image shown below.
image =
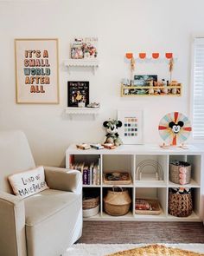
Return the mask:
<path id="1" fill-rule="evenodd" d="M 0 255 L 27 255 L 24 201 L 4 192 L 0 192 Z"/>

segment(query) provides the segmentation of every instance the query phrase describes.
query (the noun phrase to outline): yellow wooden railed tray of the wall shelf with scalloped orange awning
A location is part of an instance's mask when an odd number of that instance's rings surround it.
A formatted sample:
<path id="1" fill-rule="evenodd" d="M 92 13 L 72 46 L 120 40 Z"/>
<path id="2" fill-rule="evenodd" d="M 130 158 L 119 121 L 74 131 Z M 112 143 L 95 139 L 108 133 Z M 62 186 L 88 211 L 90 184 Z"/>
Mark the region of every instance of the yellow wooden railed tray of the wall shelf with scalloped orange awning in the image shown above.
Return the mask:
<path id="1" fill-rule="evenodd" d="M 170 86 L 126 86 L 121 84 L 121 97 L 128 96 L 181 96 L 182 84 Z"/>

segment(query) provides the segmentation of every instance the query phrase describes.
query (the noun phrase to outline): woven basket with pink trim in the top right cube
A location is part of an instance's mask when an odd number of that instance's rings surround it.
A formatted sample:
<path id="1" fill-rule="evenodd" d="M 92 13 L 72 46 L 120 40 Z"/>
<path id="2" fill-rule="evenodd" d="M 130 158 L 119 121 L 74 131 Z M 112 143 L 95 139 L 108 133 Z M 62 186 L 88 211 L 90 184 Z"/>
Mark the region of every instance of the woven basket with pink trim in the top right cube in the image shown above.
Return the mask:
<path id="1" fill-rule="evenodd" d="M 190 183 L 191 165 L 186 161 L 172 161 L 170 163 L 169 180 L 180 185 Z"/>

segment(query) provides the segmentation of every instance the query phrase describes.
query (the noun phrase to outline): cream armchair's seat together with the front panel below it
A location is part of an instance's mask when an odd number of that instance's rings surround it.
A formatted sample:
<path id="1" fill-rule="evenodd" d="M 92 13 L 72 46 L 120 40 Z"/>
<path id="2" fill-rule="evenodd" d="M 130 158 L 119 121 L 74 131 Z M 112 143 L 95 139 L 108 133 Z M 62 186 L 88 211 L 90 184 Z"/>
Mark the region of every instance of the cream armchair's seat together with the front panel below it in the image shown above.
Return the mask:
<path id="1" fill-rule="evenodd" d="M 29 256 L 61 255 L 81 234 L 82 196 L 47 189 L 24 199 Z"/>

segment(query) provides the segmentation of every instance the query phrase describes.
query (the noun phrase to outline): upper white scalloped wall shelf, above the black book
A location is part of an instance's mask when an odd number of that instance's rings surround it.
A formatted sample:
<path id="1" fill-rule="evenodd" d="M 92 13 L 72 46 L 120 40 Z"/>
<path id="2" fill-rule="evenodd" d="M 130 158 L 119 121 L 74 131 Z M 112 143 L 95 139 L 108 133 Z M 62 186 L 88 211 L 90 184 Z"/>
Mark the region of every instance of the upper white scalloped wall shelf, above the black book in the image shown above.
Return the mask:
<path id="1" fill-rule="evenodd" d="M 68 59 L 64 62 L 64 65 L 67 67 L 69 73 L 70 68 L 72 67 L 88 67 L 91 68 L 92 73 L 95 74 L 96 69 L 99 67 L 99 61 L 89 59 Z"/>

